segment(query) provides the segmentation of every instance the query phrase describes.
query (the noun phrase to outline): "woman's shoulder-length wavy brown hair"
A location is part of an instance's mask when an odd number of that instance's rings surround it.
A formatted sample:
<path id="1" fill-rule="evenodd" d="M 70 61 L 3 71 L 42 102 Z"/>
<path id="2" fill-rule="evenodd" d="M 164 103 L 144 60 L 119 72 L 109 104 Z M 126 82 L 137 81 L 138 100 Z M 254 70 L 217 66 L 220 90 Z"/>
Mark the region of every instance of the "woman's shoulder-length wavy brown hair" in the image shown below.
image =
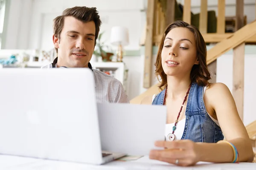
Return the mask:
<path id="1" fill-rule="evenodd" d="M 208 71 L 207 64 L 206 64 L 206 55 L 207 55 L 207 49 L 204 42 L 204 38 L 198 28 L 195 26 L 189 25 L 188 23 L 184 21 L 175 21 L 174 23 L 167 26 L 166 30 L 163 32 L 162 39 L 160 41 L 159 50 L 157 52 L 157 59 L 154 65 L 156 66 L 155 74 L 157 75 L 158 80 L 160 81 L 159 88 L 163 90 L 163 88 L 166 88 L 167 85 L 167 75 L 163 71 L 162 67 L 162 59 L 161 59 L 161 53 L 163 50 L 163 42 L 166 38 L 166 35 L 171 31 L 173 28 L 177 27 L 183 27 L 188 28 L 195 36 L 195 44 L 196 44 L 196 51 L 197 51 L 197 57 L 199 64 L 193 65 L 192 70 L 190 72 L 190 79 L 191 81 L 195 81 L 198 85 L 209 85 L 208 80 L 211 79 L 211 74 Z"/>

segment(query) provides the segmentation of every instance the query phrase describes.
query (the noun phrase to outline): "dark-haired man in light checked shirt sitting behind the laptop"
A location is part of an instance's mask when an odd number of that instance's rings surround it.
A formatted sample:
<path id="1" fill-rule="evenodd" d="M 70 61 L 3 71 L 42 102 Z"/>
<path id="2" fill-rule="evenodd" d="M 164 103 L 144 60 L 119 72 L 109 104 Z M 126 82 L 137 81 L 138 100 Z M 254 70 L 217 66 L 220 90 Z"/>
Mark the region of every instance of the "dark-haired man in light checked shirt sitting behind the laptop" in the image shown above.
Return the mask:
<path id="1" fill-rule="evenodd" d="M 94 74 L 97 102 L 128 102 L 121 82 L 92 69 L 90 64 L 101 24 L 96 8 L 76 6 L 64 10 L 53 20 L 52 40 L 58 57 L 42 68 L 90 68 Z"/>

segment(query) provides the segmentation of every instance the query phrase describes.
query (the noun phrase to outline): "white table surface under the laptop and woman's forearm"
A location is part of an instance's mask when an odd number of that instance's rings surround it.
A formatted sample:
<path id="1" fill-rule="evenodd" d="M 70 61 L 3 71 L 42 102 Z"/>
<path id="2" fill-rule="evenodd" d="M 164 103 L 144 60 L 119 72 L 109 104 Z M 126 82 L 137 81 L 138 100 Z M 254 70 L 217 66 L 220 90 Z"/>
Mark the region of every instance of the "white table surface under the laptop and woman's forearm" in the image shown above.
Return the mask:
<path id="1" fill-rule="evenodd" d="M 0 155 L 0 170 L 256 170 L 256 163 L 212 164 L 199 162 L 193 167 L 178 167 L 144 156 L 136 161 L 113 161 L 104 165 Z"/>

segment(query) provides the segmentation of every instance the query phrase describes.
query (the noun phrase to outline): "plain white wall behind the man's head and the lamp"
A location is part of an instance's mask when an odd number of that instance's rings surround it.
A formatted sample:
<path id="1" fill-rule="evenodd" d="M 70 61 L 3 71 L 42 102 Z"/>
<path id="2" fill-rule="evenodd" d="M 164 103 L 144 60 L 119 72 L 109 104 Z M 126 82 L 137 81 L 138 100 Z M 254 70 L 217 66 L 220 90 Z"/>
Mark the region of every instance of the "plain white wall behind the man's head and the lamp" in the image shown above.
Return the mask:
<path id="1" fill-rule="evenodd" d="M 108 43 L 111 27 L 129 30 L 127 50 L 138 50 L 145 23 L 143 0 L 11 0 L 5 49 L 44 49 L 52 44 L 52 20 L 73 6 L 96 7 L 102 20 L 100 32 Z M 113 46 L 113 48 L 116 48 Z"/>

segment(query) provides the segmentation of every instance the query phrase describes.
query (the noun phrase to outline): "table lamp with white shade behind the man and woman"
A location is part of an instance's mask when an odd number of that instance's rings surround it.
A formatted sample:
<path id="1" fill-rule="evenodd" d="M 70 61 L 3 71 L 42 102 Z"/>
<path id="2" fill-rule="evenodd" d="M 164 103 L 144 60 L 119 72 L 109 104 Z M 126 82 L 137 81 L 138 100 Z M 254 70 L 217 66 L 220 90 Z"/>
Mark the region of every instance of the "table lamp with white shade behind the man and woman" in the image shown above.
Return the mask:
<path id="1" fill-rule="evenodd" d="M 118 45 L 117 61 L 122 62 L 122 46 L 129 44 L 128 29 L 121 26 L 112 27 L 110 42 L 112 45 Z"/>

